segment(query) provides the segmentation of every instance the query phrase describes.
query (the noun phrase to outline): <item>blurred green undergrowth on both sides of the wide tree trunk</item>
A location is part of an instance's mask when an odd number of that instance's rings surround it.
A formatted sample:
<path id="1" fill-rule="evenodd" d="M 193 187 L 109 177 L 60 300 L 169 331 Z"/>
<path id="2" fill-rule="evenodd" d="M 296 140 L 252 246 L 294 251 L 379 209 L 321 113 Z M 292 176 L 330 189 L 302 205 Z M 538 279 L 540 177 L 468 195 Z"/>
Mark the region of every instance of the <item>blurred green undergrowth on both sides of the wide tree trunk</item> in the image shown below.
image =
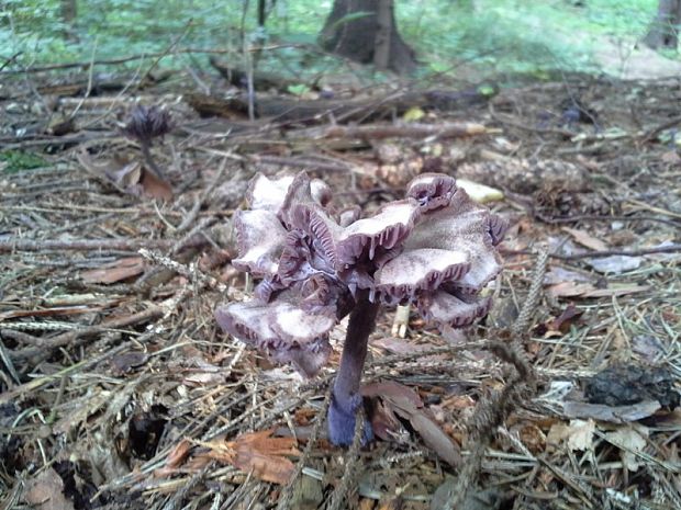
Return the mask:
<path id="1" fill-rule="evenodd" d="M 658 0 L 395 0 L 404 39 L 427 72 L 593 70 L 591 55 L 604 36 L 633 46 L 655 18 Z M 343 66 L 314 49 L 333 0 L 278 0 L 260 30 L 256 1 L 88 0 L 78 2 L 72 26 L 62 20 L 59 0 L 0 2 L 0 58 L 11 67 L 120 58 L 178 47 L 226 50 L 238 60 L 244 46 L 275 45 L 259 66 L 305 79 Z M 268 5 L 271 2 L 268 2 Z M 246 12 L 244 12 L 246 9 Z M 365 12 L 339 20 L 349 22 Z M 132 60 L 144 69 L 153 57 Z M 205 56 L 168 55 L 160 66 L 206 65 Z M 2 60 L 0 60 L 1 65 Z M 98 70 L 102 70 L 101 67 Z"/>

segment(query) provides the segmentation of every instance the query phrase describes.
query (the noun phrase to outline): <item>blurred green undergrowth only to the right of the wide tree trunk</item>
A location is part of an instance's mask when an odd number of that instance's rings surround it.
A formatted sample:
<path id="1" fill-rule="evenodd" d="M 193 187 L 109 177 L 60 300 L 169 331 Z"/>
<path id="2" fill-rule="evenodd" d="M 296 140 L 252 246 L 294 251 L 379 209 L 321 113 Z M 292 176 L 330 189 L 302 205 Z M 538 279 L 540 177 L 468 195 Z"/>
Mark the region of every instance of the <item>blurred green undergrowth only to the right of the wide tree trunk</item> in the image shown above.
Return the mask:
<path id="1" fill-rule="evenodd" d="M 630 46 L 654 19 L 657 0 L 477 0 L 401 2 L 403 34 L 429 56 L 431 70 L 458 61 L 492 72 L 594 71 L 592 53 L 603 36 Z M 456 75 L 457 67 L 448 73 Z"/>

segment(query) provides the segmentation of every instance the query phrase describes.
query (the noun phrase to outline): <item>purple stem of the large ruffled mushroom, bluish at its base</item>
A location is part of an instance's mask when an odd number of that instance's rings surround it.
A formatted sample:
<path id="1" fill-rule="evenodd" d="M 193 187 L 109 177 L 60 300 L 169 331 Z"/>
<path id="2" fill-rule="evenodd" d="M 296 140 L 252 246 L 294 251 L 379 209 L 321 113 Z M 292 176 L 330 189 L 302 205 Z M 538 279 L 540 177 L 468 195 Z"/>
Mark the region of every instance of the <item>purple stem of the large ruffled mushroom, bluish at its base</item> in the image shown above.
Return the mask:
<path id="1" fill-rule="evenodd" d="M 328 408 L 328 435 L 334 444 L 348 445 L 355 432 L 355 415 L 361 405 L 359 383 L 367 359 L 369 335 L 376 328 L 379 303 L 369 301 L 369 293 L 360 291 L 350 320 L 340 356 L 340 366 L 334 383 Z M 371 439 L 371 428 L 365 427 L 365 442 Z"/>

